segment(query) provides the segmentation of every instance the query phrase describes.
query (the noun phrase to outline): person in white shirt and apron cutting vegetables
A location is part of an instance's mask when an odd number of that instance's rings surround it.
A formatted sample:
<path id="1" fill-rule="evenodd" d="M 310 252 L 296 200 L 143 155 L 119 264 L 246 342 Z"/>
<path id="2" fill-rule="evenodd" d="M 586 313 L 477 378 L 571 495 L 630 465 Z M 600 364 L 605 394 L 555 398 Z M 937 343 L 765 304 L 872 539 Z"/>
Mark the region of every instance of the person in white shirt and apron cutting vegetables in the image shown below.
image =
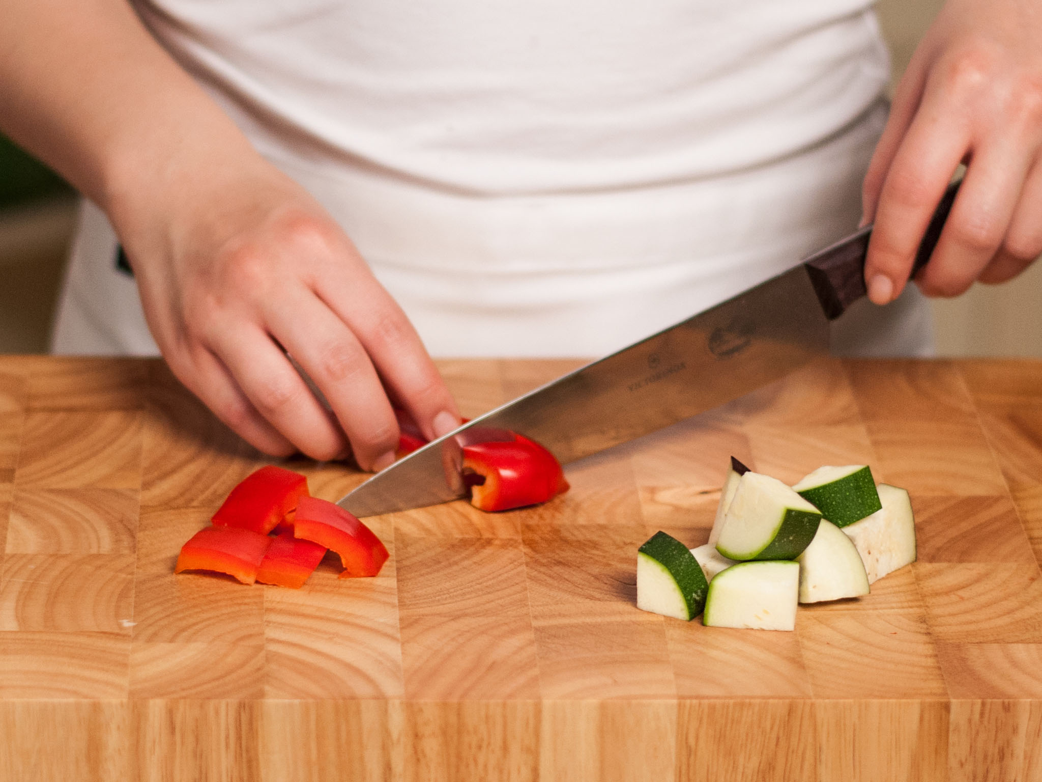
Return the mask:
<path id="1" fill-rule="evenodd" d="M 947 0 L 888 119 L 868 0 L 7 0 L 0 127 L 89 199 L 58 349 L 158 349 L 257 448 L 379 469 L 393 405 L 458 422 L 430 352 L 607 352 L 859 200 L 897 300 L 861 349 L 927 349 L 898 294 L 961 163 L 919 288 L 1042 252 L 1040 31 Z"/>

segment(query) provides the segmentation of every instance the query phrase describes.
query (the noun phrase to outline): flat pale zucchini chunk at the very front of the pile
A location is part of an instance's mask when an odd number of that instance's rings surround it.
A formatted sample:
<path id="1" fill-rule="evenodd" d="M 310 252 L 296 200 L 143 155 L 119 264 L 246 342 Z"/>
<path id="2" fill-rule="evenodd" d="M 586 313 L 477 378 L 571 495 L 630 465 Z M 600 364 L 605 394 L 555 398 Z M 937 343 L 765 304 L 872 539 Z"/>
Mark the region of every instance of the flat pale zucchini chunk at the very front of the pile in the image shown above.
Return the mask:
<path id="1" fill-rule="evenodd" d="M 710 582 L 702 622 L 717 628 L 795 630 L 796 562 L 739 562 Z"/>

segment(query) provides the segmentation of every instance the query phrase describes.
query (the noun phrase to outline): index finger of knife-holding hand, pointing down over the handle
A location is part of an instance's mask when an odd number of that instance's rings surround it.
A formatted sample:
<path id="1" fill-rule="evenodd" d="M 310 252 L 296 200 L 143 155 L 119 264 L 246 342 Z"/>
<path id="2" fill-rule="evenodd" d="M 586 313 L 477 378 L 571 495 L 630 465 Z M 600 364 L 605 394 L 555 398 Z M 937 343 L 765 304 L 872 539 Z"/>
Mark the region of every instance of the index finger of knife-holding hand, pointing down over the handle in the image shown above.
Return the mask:
<path id="1" fill-rule="evenodd" d="M 927 93 L 887 172 L 865 261 L 868 297 L 876 304 L 903 290 L 934 210 L 969 148 L 968 128 L 951 114 L 946 100 Z"/>

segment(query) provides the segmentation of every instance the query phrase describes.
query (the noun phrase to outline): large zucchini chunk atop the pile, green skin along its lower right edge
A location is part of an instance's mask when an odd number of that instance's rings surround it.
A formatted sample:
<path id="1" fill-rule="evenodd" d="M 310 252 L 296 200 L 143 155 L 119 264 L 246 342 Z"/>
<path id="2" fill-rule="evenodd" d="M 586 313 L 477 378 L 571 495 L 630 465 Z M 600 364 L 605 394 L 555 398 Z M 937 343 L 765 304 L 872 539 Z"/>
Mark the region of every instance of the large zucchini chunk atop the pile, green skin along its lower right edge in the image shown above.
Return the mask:
<path id="1" fill-rule="evenodd" d="M 735 560 L 795 559 L 818 530 L 821 512 L 776 478 L 746 472 L 724 516 L 717 551 Z"/>

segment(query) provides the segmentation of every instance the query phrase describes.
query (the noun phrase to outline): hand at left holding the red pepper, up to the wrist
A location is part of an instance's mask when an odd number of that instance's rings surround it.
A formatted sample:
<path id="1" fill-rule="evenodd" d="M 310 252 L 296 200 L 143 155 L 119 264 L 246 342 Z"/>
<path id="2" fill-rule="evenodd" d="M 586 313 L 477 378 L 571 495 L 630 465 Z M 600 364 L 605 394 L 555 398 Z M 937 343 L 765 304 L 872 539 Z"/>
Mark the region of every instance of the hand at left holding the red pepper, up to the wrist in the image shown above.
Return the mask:
<path id="1" fill-rule="evenodd" d="M 163 209 L 135 199 L 114 215 L 174 374 L 276 456 L 353 451 L 382 469 L 398 444 L 391 399 L 429 439 L 458 425 L 413 325 L 325 211 L 259 156 L 212 163 L 172 176 Z"/>

